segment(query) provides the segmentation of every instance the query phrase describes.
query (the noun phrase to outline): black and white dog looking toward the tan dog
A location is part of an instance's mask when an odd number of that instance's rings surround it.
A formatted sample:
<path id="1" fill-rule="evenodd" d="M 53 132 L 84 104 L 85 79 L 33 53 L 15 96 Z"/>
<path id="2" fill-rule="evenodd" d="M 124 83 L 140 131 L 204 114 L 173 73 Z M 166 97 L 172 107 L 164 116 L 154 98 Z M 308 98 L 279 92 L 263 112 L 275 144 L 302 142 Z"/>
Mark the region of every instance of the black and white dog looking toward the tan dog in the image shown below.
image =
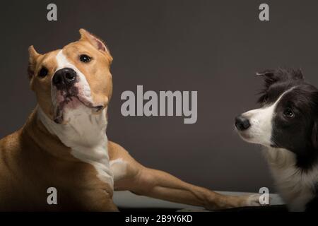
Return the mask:
<path id="1" fill-rule="evenodd" d="M 264 145 L 278 192 L 291 211 L 318 210 L 318 90 L 300 70 L 257 73 L 261 108 L 235 118 L 241 138 Z"/>

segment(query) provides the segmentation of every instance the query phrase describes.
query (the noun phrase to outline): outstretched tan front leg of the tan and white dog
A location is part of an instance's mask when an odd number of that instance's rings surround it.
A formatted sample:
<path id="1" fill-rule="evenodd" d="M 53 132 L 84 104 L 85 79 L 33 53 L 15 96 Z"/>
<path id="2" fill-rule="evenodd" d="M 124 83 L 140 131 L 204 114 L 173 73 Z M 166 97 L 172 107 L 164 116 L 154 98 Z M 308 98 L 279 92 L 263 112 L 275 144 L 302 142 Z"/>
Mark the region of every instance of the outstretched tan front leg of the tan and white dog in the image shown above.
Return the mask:
<path id="1" fill-rule="evenodd" d="M 259 206 L 259 196 L 225 196 L 188 184 L 166 172 L 143 167 L 116 143 L 109 143 L 114 188 L 208 210 Z"/>

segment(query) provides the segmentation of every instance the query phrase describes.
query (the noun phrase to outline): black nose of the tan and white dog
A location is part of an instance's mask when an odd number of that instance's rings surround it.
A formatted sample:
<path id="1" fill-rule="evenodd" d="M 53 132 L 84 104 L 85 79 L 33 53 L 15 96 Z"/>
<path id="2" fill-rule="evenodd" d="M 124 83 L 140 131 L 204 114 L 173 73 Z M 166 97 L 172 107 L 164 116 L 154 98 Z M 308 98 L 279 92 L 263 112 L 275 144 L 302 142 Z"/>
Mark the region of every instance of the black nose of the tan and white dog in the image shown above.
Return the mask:
<path id="1" fill-rule="evenodd" d="M 57 86 L 57 88 L 66 88 L 76 81 L 76 72 L 73 69 L 65 68 L 59 69 L 59 71 L 54 73 L 52 78 L 52 83 Z"/>

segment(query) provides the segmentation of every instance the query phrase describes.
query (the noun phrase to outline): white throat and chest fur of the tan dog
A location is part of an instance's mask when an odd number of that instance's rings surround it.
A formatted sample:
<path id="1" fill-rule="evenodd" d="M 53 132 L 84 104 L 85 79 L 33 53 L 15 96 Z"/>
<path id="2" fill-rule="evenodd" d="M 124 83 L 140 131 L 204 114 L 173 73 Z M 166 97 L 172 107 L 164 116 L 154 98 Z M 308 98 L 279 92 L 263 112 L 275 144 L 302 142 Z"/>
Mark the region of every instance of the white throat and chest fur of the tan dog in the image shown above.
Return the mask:
<path id="1" fill-rule="evenodd" d="M 98 178 L 114 187 L 107 150 L 106 110 L 92 114 L 91 109 L 80 106 L 64 114 L 67 124 L 56 124 L 38 107 L 37 114 L 47 130 L 58 136 L 64 145 L 71 148 L 71 154 L 93 165 Z"/>

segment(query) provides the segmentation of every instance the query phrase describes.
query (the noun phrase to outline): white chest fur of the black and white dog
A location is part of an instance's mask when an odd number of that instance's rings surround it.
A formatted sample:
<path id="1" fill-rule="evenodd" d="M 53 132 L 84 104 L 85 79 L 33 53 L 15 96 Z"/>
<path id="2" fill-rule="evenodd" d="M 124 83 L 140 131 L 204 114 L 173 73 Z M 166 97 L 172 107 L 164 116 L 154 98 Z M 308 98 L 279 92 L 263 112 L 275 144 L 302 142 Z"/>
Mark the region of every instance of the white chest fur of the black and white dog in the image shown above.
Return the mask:
<path id="1" fill-rule="evenodd" d="M 318 181 L 318 167 L 308 172 L 295 166 L 295 154 L 281 148 L 267 148 L 264 155 L 276 183 L 278 192 L 291 211 L 304 211 L 314 197 L 314 184 Z"/>

